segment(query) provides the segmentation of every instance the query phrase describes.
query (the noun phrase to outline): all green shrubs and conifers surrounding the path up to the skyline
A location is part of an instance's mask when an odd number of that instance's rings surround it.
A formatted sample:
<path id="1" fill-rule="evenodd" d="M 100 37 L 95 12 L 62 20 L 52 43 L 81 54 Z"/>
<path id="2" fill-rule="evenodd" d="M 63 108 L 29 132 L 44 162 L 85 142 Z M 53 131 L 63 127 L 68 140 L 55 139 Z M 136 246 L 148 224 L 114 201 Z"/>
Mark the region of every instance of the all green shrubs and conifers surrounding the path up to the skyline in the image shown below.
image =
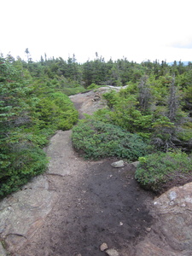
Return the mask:
<path id="1" fill-rule="evenodd" d="M 165 61 L 138 64 L 126 59 L 105 61 L 96 54 L 94 61 L 80 64 L 75 55 L 67 61 L 45 55 L 36 62 L 2 55 L 0 196 L 44 172 L 48 160 L 42 148 L 49 137 L 78 121 L 68 96 L 107 84 L 128 86 L 105 93 L 108 107 L 74 127 L 74 147 L 87 158 L 139 159 L 136 178 L 154 191 L 159 192 L 167 180 L 179 177 L 180 182 L 182 174 L 176 176 L 176 172 L 190 176 L 191 62 L 187 66 L 181 61 L 172 66 Z"/>

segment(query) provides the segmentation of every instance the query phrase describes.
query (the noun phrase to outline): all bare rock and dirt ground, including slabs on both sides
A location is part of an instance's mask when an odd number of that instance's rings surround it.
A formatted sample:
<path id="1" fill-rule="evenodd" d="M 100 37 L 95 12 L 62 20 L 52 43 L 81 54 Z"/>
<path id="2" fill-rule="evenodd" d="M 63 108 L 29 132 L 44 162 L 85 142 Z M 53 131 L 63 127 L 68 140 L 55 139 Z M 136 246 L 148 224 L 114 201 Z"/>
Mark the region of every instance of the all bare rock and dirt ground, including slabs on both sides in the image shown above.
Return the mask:
<path id="1" fill-rule="evenodd" d="M 71 97 L 80 117 L 102 106 L 94 97 Z M 57 131 L 45 150 L 48 171 L 0 202 L 1 256 L 192 255 L 191 183 L 154 199 L 134 165 L 80 158 L 71 131 Z"/>

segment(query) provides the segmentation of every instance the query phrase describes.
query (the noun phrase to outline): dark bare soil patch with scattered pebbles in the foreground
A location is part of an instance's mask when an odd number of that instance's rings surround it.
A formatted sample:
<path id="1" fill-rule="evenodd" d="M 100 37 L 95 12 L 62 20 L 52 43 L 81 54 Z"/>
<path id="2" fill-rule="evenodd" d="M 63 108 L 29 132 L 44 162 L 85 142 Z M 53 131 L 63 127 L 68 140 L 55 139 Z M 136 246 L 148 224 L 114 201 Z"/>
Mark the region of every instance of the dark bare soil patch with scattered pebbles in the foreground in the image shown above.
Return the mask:
<path id="1" fill-rule="evenodd" d="M 133 165 L 117 169 L 110 166 L 113 161 L 80 170 L 74 182 L 70 176 L 63 178 L 59 201 L 18 255 L 102 256 L 102 242 L 134 255 L 133 245 L 153 222 L 146 207 L 153 195 L 138 187 Z"/>

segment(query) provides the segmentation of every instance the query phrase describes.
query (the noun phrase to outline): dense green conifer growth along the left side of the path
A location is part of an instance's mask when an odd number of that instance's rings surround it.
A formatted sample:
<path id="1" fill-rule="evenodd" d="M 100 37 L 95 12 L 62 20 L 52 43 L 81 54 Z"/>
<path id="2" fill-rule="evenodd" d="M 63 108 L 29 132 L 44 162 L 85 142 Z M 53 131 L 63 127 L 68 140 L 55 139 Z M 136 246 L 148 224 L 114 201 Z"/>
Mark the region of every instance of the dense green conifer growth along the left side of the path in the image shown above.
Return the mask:
<path id="1" fill-rule="evenodd" d="M 55 81 L 33 77 L 21 61 L 0 59 L 0 197 L 45 171 L 43 147 L 69 130 L 78 112 Z"/>

